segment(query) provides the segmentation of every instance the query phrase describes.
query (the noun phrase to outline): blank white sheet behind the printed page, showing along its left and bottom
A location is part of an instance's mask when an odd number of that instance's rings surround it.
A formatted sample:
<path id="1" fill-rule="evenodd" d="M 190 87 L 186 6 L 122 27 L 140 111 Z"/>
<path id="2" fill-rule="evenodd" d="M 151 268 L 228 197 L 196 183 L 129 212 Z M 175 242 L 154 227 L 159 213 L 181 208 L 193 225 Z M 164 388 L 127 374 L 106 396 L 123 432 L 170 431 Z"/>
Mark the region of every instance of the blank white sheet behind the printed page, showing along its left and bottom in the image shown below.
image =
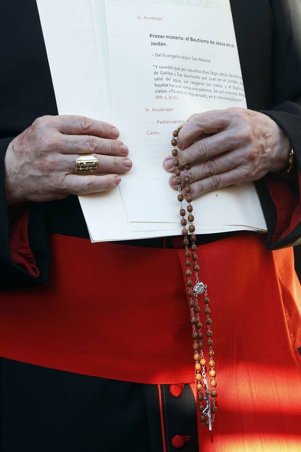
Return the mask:
<path id="1" fill-rule="evenodd" d="M 83 114 L 113 122 L 114 118 L 107 110 L 106 74 L 99 64 L 89 1 L 38 0 L 37 4 L 59 114 Z M 131 227 L 128 223 L 118 190 L 108 194 L 81 196 L 80 202 L 88 229 L 95 241 L 176 234 L 177 224 L 162 222 L 148 225 L 140 223 L 141 234 L 132 233 L 131 229 L 139 229 L 139 226 L 137 228 L 138 223 L 134 223 Z M 116 228 L 111 224 L 112 218 L 116 222 Z M 231 226 L 235 227 L 245 229 L 241 225 Z M 201 232 L 205 233 L 205 230 Z M 209 226 L 206 233 L 209 232 L 215 231 Z"/>

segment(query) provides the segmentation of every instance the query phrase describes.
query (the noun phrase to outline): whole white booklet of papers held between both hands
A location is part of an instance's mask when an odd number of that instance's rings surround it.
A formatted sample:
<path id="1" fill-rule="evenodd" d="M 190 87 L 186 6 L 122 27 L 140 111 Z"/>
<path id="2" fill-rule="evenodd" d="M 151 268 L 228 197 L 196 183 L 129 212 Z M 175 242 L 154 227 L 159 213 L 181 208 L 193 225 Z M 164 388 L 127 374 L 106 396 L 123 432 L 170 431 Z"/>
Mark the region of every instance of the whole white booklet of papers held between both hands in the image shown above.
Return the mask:
<path id="1" fill-rule="evenodd" d="M 133 161 L 118 189 L 80 197 L 91 240 L 181 233 L 162 166 L 173 130 L 195 112 L 246 107 L 229 0 L 37 3 L 59 113 L 116 125 Z M 200 197 L 194 212 L 199 234 L 266 230 L 251 183 Z"/>

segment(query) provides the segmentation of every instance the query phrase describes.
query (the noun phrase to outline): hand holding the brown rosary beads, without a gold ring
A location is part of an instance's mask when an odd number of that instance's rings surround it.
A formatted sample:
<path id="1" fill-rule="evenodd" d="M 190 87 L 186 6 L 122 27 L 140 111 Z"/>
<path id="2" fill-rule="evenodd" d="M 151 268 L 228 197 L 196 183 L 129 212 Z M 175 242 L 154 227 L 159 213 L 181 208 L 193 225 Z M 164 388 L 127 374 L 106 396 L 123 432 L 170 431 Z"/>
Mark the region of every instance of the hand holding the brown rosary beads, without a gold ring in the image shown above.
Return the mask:
<path id="1" fill-rule="evenodd" d="M 245 108 L 211 110 L 193 115 L 178 136 L 180 167 L 190 164 L 191 195 L 198 196 L 228 185 L 242 185 L 268 172 L 283 169 L 290 144 L 268 116 Z M 173 172 L 174 158 L 164 167 Z M 170 185 L 177 189 L 175 176 Z M 184 185 L 183 185 L 184 186 Z"/>

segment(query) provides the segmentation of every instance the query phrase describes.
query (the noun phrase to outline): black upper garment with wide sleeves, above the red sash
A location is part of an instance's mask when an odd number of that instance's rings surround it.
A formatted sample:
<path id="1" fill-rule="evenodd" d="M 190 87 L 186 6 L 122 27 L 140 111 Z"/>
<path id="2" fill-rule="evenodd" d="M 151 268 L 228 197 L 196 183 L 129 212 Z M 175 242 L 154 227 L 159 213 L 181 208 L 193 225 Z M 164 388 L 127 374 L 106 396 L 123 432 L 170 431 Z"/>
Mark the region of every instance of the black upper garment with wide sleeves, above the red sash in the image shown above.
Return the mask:
<path id="1" fill-rule="evenodd" d="M 284 129 L 294 148 L 296 162 L 300 164 L 300 4 L 295 0 L 231 0 L 230 3 L 248 107 L 264 111 Z M 9 141 L 37 117 L 56 115 L 57 106 L 35 0 L 0 3 L 0 42 L 3 65 L 0 71 L 0 156 L 3 161 Z M 3 163 L 0 171 L 1 168 Z M 47 233 L 89 238 L 78 200 L 71 196 L 31 205 L 30 244 L 41 273 L 40 278 L 35 279 L 10 260 L 3 170 L 0 177 L 0 282 L 45 283 L 49 265 Z M 274 205 L 266 189 L 260 189 L 259 195 L 270 238 L 275 226 Z M 279 244 L 268 240 L 267 246 L 287 246 L 298 236 L 299 227 Z M 208 240 L 217 238 L 212 235 Z M 163 246 L 163 240 L 131 241 L 130 244 L 157 247 Z"/>

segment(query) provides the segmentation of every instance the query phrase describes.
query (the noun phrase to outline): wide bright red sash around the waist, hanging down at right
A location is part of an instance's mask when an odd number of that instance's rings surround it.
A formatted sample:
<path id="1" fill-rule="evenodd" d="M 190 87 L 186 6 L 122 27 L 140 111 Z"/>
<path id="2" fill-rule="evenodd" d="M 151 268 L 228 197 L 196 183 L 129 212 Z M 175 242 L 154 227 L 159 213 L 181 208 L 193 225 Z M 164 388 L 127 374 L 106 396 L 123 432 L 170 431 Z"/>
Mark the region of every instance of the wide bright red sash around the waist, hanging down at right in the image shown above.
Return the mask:
<path id="1" fill-rule="evenodd" d="M 198 247 L 217 372 L 200 451 L 297 452 L 301 291 L 292 249 L 238 234 Z M 53 236 L 49 284 L 2 291 L 0 356 L 87 375 L 194 383 L 183 250 Z M 201 304 L 202 305 L 202 304 Z M 194 386 L 194 385 L 193 385 Z"/>

